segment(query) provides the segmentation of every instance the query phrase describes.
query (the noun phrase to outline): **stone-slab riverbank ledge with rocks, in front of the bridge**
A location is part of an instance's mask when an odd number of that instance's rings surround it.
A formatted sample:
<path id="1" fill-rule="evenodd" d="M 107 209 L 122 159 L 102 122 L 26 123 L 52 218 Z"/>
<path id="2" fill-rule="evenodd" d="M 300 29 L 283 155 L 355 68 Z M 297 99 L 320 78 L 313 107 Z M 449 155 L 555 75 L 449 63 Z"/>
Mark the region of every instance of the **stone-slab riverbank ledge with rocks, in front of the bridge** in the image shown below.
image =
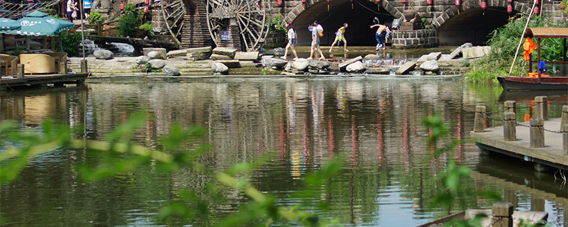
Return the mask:
<path id="1" fill-rule="evenodd" d="M 331 53 L 324 51 L 324 56 L 326 57 L 325 62 L 328 62 L 330 65 L 329 74 L 345 75 L 337 66 L 346 60 L 361 56 L 364 57 L 361 62 L 366 65 L 367 70 L 359 74 L 394 75 L 395 71 L 406 62 L 419 60 L 421 56 L 430 52 L 440 52 L 442 54 L 450 53 L 455 48 L 456 47 L 442 47 L 420 50 L 387 49 L 376 52 L 372 47 L 349 47 L 350 51 L 348 52 L 344 52 L 342 48 L 335 48 Z M 296 50 L 298 57 L 309 57 L 309 47 L 297 47 Z M 371 57 L 371 59 L 368 59 L 368 57 Z M 80 61 L 82 59 L 82 57 L 70 57 L 68 62 L 69 70 L 72 72 L 80 72 Z M 95 57 L 85 57 L 85 60 L 87 60 L 89 72 L 91 73 L 89 77 L 163 75 L 162 72 L 147 72 L 143 67 L 139 67 L 136 64 L 136 57 L 114 57 L 111 60 L 98 60 Z M 190 61 L 187 60 L 187 57 L 170 57 L 165 60 L 165 65 L 172 65 L 178 68 L 178 70 L 180 70 L 180 76 L 182 77 L 199 77 L 213 75 L 212 65 L 215 62 L 229 62 L 229 64 L 225 64 L 229 66 L 228 75 L 266 75 L 280 74 L 282 72 L 281 70 L 274 70 L 272 67 L 266 67 L 266 65 L 261 64 L 261 62 L 243 60 Z M 459 59 L 439 61 L 438 65 L 439 70 L 431 75 L 461 74 L 469 70 L 468 67 L 464 66 L 464 60 Z M 420 75 L 420 72 L 417 71 L 409 74 Z"/>

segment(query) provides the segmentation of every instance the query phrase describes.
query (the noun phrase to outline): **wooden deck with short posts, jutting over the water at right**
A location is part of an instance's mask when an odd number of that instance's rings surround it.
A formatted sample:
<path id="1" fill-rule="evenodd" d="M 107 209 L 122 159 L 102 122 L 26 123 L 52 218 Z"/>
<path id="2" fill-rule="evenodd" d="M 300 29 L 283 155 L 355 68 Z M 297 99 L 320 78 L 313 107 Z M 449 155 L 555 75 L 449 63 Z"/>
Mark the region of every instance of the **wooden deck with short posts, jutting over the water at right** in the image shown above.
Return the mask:
<path id="1" fill-rule="evenodd" d="M 539 162 L 545 165 L 551 165 L 563 170 L 568 170 L 568 155 L 562 154 L 562 133 L 552 133 L 550 131 L 559 132 L 560 118 L 553 118 L 545 121 L 545 148 L 530 148 L 530 128 L 528 122 L 520 123 L 523 126 L 517 126 L 517 140 L 505 141 L 503 137 L 503 126 L 495 128 L 486 128 L 483 133 L 471 132 L 471 138 L 476 143 L 481 143 L 484 148 L 491 147 L 497 150 L 506 151 L 514 154 L 513 156 L 522 155 L 523 159 Z M 481 146 L 480 146 L 481 147 Z M 544 162 L 542 162 L 544 161 Z M 549 162 L 549 163 L 546 163 Z"/>

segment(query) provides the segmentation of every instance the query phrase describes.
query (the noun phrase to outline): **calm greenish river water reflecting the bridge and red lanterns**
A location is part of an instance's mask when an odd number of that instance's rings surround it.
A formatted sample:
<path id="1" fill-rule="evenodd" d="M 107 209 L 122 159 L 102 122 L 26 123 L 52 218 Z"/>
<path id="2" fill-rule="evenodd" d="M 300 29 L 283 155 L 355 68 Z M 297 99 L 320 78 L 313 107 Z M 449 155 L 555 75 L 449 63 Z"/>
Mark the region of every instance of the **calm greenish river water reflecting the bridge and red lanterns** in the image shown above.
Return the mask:
<path id="1" fill-rule="evenodd" d="M 503 93 L 493 85 L 453 79 L 343 77 L 335 79 L 212 79 L 201 82 L 144 81 L 90 83 L 84 87 L 11 92 L 1 95 L 1 120 L 16 120 L 21 131 L 38 131 L 46 118 L 84 125 L 83 135 L 101 140 L 139 110 L 148 116 L 136 141 L 159 148 L 158 137 L 173 123 L 202 125 L 211 150 L 200 160 L 222 171 L 238 162 L 270 157 L 251 173 L 251 183 L 274 194 L 282 205 L 298 203 L 307 173 L 330 157 L 344 157 L 344 170 L 329 183 L 322 214 L 345 226 L 417 226 L 467 208 L 491 206 L 484 196 L 429 209 L 444 192 L 439 176 L 447 162 L 471 168 L 464 189 L 491 189 L 520 211 L 547 211 L 550 226 L 568 225 L 568 187 L 554 172 L 537 173 L 528 163 L 480 156 L 469 139 L 475 106 L 503 109 L 518 102 L 530 114 L 534 94 Z M 551 116 L 559 116 L 563 94 L 550 94 Z M 525 109 L 522 109 L 523 106 Z M 427 159 L 429 131 L 422 118 L 439 114 L 451 132 L 441 145 L 461 142 L 452 153 Z M 519 117 L 523 118 L 523 117 Z M 487 126 L 500 122 L 488 120 Z M 159 226 L 153 216 L 184 189 L 202 189 L 207 176 L 192 170 L 173 174 L 138 168 L 101 182 L 84 182 L 75 164 L 82 150 L 62 149 L 30 160 L 16 181 L 1 187 L 2 226 Z M 209 177 L 210 178 L 210 177 Z M 212 220 L 235 211 L 246 196 L 226 190 Z M 170 226 L 210 226 L 214 221 L 178 221 Z"/>

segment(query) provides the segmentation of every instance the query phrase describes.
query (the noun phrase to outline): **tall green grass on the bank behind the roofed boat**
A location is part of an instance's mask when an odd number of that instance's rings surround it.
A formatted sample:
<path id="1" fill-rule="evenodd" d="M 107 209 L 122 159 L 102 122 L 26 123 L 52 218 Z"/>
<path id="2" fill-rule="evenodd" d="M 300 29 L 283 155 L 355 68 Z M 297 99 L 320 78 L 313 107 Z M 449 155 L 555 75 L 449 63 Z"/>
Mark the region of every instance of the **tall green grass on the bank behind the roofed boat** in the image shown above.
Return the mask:
<path id="1" fill-rule="evenodd" d="M 466 81 L 474 83 L 497 83 L 497 75 L 508 75 L 510 65 L 515 57 L 515 50 L 523 33 L 527 15 L 510 18 L 505 26 L 491 32 L 487 45 L 491 46 L 491 53 L 481 60 L 471 63 L 471 70 L 464 74 Z M 547 15 L 533 15 L 528 23 L 529 28 L 550 27 L 566 28 L 566 21 L 554 21 Z M 542 39 L 541 56 L 543 60 L 559 61 L 562 59 L 562 43 L 559 39 Z M 536 40 L 533 40 L 536 43 Z M 564 55 L 568 56 L 567 52 Z M 532 58 L 537 57 L 537 50 L 532 52 Z M 519 49 L 517 60 L 513 65 L 512 76 L 528 76 L 528 62 L 524 61 L 523 48 Z"/>

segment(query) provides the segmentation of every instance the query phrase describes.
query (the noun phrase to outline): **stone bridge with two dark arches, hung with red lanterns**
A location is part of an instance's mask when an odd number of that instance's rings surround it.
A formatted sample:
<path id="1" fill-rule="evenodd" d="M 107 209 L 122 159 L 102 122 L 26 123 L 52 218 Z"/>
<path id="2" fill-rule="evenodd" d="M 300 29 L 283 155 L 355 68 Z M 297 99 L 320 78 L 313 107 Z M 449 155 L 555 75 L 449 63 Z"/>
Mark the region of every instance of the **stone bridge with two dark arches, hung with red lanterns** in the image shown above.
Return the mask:
<path id="1" fill-rule="evenodd" d="M 182 43 L 185 47 L 207 45 L 207 40 L 197 37 L 208 34 L 204 15 L 204 1 L 195 1 L 196 7 L 187 7 L 185 27 L 182 31 Z M 369 28 L 373 18 L 381 23 L 390 23 L 395 18 L 403 19 L 403 11 L 415 10 L 420 14 L 422 26 L 425 30 L 419 33 L 395 33 L 393 45 L 399 47 L 411 46 L 413 43 L 426 42 L 435 45 L 461 45 L 474 43 L 483 45 L 488 40 L 487 35 L 498 27 L 508 23 L 518 13 L 529 13 L 532 0 L 485 0 L 486 9 L 481 9 L 480 0 L 282 0 L 278 6 L 272 1 L 272 16 L 281 15 L 285 23 L 292 23 L 297 31 L 297 45 L 310 45 L 310 32 L 307 25 L 318 21 L 324 28 L 322 45 L 330 45 L 334 40 L 334 33 L 343 23 L 348 23 L 345 38 L 347 45 L 373 46 L 376 45 L 374 31 Z M 403 3 L 405 1 L 405 3 Z M 554 20 L 568 20 L 559 6 L 560 1 L 542 1 L 541 14 L 552 16 Z M 510 4 L 513 11 L 508 13 Z M 539 16 L 534 14 L 533 16 Z M 398 37 L 398 38 L 397 38 Z M 414 39 L 414 40 L 413 40 Z M 430 41 L 429 41 L 430 39 Z"/>

